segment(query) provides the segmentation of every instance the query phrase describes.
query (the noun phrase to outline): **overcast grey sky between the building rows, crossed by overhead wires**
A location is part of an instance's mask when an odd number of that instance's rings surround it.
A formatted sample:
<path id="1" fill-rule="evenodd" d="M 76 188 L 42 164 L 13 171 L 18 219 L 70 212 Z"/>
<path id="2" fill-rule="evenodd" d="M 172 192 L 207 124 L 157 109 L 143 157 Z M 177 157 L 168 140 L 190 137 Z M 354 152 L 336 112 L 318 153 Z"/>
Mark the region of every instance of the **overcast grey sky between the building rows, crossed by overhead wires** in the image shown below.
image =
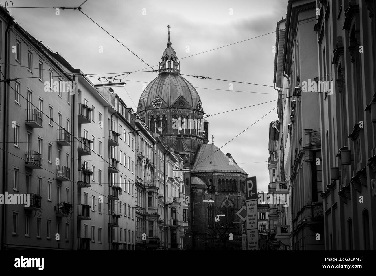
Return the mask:
<path id="1" fill-rule="evenodd" d="M 14 6 L 77 7 L 83 1 L 13 2 Z M 167 25 L 170 24 L 172 47 L 181 59 L 181 73 L 226 80 L 184 76 L 196 87 L 208 115 L 274 100 L 206 118 L 209 121 L 209 136 L 214 135 L 214 143 L 219 148 L 277 105 L 277 91 L 273 87 L 231 81 L 273 86 L 272 48 L 276 22 L 286 17 L 287 2 L 88 0 L 82 5 L 82 11 L 154 69 L 158 69 L 156 65 L 166 48 Z M 77 10 L 61 10 L 60 15 L 56 15 L 54 9 L 11 8 L 11 15 L 38 41 L 59 52 L 74 68 L 81 69 L 85 74 L 108 77 L 116 75 L 111 73 L 148 67 Z M 267 33 L 270 34 L 264 35 Z M 254 38 L 260 35 L 264 36 Z M 249 38 L 254 39 L 186 57 Z M 101 46 L 103 53 L 99 51 Z M 125 77 L 125 89 L 118 87 L 115 92 L 127 106 L 136 110 L 143 84 L 156 76 L 155 72 L 124 75 L 121 78 Z M 91 78 L 91 81 L 99 83 L 97 78 Z M 230 83 L 233 90 L 229 90 Z M 268 187 L 268 124 L 275 119 L 277 115 L 274 109 L 221 148 L 224 153 L 231 153 L 250 176 L 257 176 L 258 191 L 267 191 Z"/>

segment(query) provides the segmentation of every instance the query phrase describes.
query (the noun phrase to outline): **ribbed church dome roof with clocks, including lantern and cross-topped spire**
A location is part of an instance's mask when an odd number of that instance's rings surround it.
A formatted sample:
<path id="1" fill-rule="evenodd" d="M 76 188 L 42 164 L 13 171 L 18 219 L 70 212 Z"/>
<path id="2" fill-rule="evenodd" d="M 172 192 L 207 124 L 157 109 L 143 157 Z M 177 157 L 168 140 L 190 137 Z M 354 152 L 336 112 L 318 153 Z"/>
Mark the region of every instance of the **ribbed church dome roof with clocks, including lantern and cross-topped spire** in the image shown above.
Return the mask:
<path id="1" fill-rule="evenodd" d="M 167 48 L 159 63 L 159 75 L 152 80 L 141 94 L 137 113 L 164 108 L 194 109 L 203 113 L 200 96 L 192 84 L 180 75 L 180 62 L 171 47 L 170 25 L 168 25 Z"/>

